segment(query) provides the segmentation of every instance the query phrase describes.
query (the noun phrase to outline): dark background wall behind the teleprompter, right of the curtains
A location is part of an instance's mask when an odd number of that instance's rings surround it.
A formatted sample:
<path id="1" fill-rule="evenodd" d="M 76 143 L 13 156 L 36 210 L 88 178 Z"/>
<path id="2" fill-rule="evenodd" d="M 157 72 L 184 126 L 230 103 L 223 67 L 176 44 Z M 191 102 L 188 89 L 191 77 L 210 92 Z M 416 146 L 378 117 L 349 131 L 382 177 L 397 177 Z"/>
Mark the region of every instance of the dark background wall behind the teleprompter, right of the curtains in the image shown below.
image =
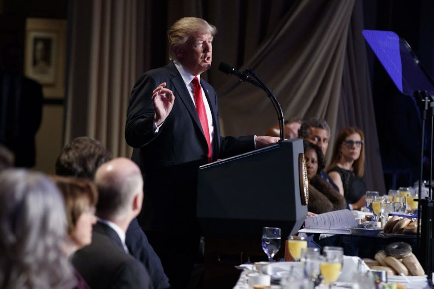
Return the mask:
<path id="1" fill-rule="evenodd" d="M 365 29 L 396 32 L 434 75 L 433 1 L 364 0 L 363 4 Z M 398 91 L 370 47 L 367 53 L 386 187 L 412 185 L 419 179 L 420 112 L 413 97 Z M 393 174 L 398 177 L 396 184 Z"/>

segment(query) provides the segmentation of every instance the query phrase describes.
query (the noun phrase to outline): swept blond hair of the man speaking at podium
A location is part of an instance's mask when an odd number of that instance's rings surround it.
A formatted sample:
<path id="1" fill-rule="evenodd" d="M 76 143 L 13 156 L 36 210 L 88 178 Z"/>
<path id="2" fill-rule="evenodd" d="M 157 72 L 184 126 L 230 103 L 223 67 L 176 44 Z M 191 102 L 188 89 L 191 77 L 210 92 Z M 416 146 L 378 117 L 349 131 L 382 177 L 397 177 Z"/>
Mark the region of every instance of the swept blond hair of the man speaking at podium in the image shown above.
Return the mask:
<path id="1" fill-rule="evenodd" d="M 184 17 L 175 22 L 167 32 L 169 41 L 169 59 L 178 59 L 174 47 L 183 45 L 195 33 L 209 33 L 212 36 L 217 34 L 217 28 L 207 21 L 196 17 Z"/>

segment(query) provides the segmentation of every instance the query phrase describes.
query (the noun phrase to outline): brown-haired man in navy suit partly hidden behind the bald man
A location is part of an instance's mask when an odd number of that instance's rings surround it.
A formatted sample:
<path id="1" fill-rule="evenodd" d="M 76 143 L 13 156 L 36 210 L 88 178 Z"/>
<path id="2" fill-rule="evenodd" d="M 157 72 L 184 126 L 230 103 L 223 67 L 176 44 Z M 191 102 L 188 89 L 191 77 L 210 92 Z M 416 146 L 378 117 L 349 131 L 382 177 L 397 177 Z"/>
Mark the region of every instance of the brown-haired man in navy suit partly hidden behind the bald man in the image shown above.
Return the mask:
<path id="1" fill-rule="evenodd" d="M 112 154 L 91 137 L 80 136 L 68 143 L 56 162 L 56 175 L 76 176 L 93 181 L 100 165 L 112 159 Z M 148 270 L 155 289 L 170 288 L 161 261 L 148 242 L 148 238 L 134 218 L 128 227 L 125 244 L 129 253 Z"/>

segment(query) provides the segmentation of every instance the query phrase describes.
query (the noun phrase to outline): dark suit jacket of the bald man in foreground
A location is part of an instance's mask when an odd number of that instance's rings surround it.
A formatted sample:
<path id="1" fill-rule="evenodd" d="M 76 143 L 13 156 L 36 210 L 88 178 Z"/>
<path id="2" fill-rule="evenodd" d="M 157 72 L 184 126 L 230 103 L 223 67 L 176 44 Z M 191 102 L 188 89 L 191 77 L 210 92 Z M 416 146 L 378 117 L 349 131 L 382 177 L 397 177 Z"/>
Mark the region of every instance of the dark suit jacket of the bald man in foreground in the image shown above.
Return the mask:
<path id="1" fill-rule="evenodd" d="M 92 244 L 78 250 L 72 264 L 92 289 L 154 288 L 145 267 L 125 252 L 118 234 L 100 222 L 93 228 Z"/>

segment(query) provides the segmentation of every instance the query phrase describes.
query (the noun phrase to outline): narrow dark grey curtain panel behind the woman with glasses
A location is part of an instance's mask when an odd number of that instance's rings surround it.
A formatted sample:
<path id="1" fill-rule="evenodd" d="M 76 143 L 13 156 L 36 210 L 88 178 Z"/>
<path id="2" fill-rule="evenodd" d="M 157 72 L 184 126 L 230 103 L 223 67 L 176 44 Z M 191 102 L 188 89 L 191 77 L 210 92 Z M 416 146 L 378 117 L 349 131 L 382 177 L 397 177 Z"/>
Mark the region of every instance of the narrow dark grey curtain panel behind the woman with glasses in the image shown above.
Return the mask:
<path id="1" fill-rule="evenodd" d="M 362 11 L 362 2 L 356 1 L 346 44 L 335 131 L 339 132 L 347 126 L 356 126 L 365 133 L 366 188 L 371 191 L 386 192 L 369 81 L 366 42 L 362 36 Z"/>

